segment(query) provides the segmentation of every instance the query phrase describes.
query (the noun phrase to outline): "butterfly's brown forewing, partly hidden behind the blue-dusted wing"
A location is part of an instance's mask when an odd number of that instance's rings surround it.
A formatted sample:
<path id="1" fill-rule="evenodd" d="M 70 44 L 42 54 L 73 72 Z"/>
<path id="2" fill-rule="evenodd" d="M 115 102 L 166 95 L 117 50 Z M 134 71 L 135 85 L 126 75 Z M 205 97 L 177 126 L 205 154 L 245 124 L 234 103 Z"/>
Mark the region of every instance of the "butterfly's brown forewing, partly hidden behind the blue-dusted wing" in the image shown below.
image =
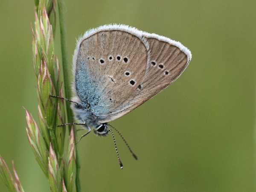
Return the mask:
<path id="1" fill-rule="evenodd" d="M 180 76 L 191 60 L 191 52 L 179 42 L 149 33 L 143 33 L 143 38 L 150 50 L 143 81 L 125 102 L 106 116 L 106 121 L 125 115 L 165 89 Z"/>

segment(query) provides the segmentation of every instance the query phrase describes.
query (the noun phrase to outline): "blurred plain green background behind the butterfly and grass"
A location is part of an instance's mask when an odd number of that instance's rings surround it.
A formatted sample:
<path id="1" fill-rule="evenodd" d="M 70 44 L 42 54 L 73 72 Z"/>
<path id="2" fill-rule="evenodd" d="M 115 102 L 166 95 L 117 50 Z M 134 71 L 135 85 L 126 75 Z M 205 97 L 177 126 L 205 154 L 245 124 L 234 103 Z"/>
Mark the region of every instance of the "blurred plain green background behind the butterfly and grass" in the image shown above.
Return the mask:
<path id="1" fill-rule="evenodd" d="M 256 1 L 65 1 L 69 60 L 86 30 L 122 23 L 180 41 L 192 61 L 177 81 L 113 124 L 116 135 L 79 143 L 83 191 L 256 191 Z M 48 192 L 26 136 L 37 118 L 33 0 L 0 0 L 0 154 L 26 192 Z M 59 28 L 56 53 L 61 60 Z M 80 133 L 82 134 L 82 133 Z M 7 191 L 0 180 L 0 191 Z"/>

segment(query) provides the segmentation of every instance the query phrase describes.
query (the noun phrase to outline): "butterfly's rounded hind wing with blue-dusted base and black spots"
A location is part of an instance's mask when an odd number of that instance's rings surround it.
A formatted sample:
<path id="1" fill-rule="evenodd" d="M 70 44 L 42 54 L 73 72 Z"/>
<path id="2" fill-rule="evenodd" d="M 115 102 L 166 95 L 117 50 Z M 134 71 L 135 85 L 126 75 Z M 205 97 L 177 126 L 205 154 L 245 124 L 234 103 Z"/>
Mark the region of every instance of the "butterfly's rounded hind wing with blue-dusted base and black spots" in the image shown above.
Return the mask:
<path id="1" fill-rule="evenodd" d="M 91 30 L 79 40 L 74 54 L 75 96 L 105 121 L 136 91 L 147 63 L 148 45 L 137 29 L 103 26 Z"/>

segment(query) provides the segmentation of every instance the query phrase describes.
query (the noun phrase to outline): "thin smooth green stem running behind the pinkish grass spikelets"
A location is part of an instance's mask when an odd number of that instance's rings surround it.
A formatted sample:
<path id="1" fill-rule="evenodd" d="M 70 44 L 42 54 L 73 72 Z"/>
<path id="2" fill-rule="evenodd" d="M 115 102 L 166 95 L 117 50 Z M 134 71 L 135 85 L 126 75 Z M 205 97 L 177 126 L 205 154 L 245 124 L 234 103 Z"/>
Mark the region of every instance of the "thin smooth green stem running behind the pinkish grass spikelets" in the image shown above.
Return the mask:
<path id="1" fill-rule="evenodd" d="M 63 13 L 63 0 L 58 0 L 58 11 L 59 11 L 59 20 L 60 20 L 60 30 L 61 30 L 61 53 L 62 53 L 62 66 L 63 66 L 63 77 L 64 77 L 64 90 L 65 96 L 67 99 L 71 98 L 71 89 L 70 89 L 70 69 L 68 65 L 67 57 L 67 38 L 66 38 L 66 29 L 64 22 L 64 13 Z M 70 103 L 67 105 L 67 120 L 68 122 L 73 122 L 73 113 L 70 108 Z M 71 131 L 71 126 L 69 127 L 69 132 Z M 77 141 L 77 133 L 75 132 L 75 140 Z M 81 192 L 80 185 L 80 160 L 79 160 L 79 150 L 76 145 L 76 191 Z"/>

